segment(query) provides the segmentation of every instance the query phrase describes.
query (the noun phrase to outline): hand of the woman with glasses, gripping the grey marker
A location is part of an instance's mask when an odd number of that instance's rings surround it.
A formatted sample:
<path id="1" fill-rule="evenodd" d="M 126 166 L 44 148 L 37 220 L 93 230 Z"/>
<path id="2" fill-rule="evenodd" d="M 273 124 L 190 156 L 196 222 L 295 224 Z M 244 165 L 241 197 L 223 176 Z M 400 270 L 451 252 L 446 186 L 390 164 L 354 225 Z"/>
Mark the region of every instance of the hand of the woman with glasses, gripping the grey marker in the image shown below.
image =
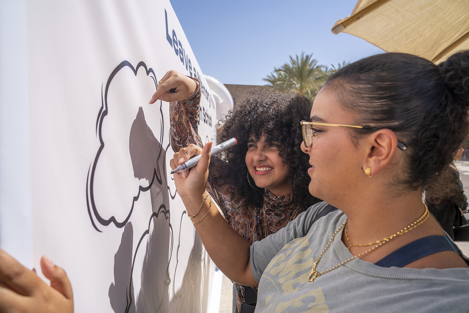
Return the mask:
<path id="1" fill-rule="evenodd" d="M 173 159 L 169 162 L 172 169 L 181 165 L 191 157 L 202 154 L 197 165 L 189 170 L 178 172 L 174 174 L 174 184 L 179 196 L 184 200 L 185 198 L 200 197 L 205 192 L 208 166 L 210 164 L 210 149 L 212 149 L 212 142 L 200 148 L 197 145 L 190 144 L 186 148 L 182 148 L 178 153 L 174 153 Z"/>

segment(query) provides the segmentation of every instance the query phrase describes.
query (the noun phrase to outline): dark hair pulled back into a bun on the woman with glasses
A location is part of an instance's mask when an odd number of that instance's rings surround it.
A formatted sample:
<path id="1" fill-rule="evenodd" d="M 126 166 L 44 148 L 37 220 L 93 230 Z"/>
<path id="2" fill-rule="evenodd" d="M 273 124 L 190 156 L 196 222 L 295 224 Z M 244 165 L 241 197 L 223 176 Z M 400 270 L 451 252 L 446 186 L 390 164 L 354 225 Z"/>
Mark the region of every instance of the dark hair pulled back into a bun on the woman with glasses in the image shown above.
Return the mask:
<path id="1" fill-rule="evenodd" d="M 446 170 L 468 133 L 468 51 L 438 66 L 406 53 L 373 55 L 340 69 L 325 88 L 355 113 L 357 125 L 393 130 L 408 146 L 396 184 L 425 189 L 438 183 L 437 173 Z"/>

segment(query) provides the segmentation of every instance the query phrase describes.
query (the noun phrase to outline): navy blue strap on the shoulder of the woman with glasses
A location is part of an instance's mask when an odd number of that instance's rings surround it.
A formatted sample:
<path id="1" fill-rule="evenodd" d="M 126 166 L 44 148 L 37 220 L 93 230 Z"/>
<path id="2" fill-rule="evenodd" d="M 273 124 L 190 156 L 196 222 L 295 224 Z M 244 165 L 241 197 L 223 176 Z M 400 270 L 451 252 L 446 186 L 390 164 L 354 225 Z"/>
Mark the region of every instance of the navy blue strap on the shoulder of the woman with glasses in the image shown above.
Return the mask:
<path id="1" fill-rule="evenodd" d="M 461 255 L 460 250 L 449 237 L 446 235 L 435 235 L 423 237 L 408 243 L 386 255 L 383 259 L 376 262 L 375 265 L 380 267 L 404 267 L 416 260 L 442 251 L 454 251 Z"/>

